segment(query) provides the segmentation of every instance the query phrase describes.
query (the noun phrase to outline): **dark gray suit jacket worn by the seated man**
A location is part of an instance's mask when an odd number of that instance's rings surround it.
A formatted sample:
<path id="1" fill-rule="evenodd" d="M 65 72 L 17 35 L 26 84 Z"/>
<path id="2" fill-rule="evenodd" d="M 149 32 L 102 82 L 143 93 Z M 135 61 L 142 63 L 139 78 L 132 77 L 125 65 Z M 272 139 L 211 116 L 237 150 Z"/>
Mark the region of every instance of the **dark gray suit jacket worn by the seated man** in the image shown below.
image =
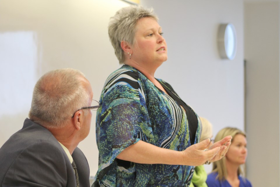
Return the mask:
<path id="1" fill-rule="evenodd" d="M 72 154 L 80 186 L 90 186 L 83 152 Z M 65 151 L 46 128 L 28 118 L 21 130 L 0 148 L 0 186 L 76 187 L 74 169 Z"/>

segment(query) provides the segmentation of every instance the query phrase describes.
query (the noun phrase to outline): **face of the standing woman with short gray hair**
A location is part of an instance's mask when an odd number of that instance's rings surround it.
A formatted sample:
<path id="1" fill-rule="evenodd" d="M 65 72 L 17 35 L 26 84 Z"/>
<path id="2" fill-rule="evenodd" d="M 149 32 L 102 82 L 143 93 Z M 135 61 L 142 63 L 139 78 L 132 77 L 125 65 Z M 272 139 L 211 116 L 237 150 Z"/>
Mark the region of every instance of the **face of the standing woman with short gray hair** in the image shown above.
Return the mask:
<path id="1" fill-rule="evenodd" d="M 159 66 L 167 60 L 167 45 L 162 37 L 162 28 L 153 18 L 138 20 L 131 58 L 148 66 Z"/>

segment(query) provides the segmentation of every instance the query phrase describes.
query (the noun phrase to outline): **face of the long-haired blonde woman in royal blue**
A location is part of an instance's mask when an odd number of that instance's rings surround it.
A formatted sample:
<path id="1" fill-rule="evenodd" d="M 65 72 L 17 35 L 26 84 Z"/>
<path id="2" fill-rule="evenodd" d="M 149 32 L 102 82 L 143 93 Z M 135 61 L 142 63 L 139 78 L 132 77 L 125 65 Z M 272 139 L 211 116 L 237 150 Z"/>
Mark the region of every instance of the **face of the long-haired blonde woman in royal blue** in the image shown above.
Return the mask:
<path id="1" fill-rule="evenodd" d="M 247 157 L 247 140 L 242 134 L 234 136 L 230 148 L 228 149 L 225 157 L 227 162 L 237 165 L 244 164 Z"/>

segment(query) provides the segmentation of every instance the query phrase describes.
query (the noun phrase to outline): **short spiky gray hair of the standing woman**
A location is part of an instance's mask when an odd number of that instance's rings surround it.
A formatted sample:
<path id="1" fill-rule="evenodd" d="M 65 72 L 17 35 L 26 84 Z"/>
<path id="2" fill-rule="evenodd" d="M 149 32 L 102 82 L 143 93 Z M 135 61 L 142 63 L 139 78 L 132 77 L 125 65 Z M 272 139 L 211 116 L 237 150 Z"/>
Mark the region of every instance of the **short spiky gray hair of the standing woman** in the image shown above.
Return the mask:
<path id="1" fill-rule="evenodd" d="M 136 5 L 121 8 L 110 18 L 108 34 L 120 64 L 125 60 L 120 45 L 121 41 L 127 41 L 133 45 L 137 21 L 145 17 L 150 17 L 158 21 L 157 15 L 153 12 L 153 8 L 145 9 L 142 6 Z"/>

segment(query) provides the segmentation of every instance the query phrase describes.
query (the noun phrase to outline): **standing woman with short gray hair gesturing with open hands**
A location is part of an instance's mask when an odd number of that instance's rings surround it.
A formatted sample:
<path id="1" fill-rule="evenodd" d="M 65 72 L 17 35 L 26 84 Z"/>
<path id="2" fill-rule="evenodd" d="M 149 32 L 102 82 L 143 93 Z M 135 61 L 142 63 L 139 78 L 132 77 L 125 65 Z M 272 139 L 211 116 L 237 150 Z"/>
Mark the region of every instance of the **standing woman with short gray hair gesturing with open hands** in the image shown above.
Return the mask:
<path id="1" fill-rule="evenodd" d="M 194 166 L 219 160 L 230 145 L 231 136 L 211 147 L 209 139 L 199 143 L 197 114 L 154 77 L 167 60 L 157 20 L 152 9 L 130 6 L 109 22 L 110 41 L 124 65 L 109 75 L 101 92 L 93 186 L 189 186 Z"/>

